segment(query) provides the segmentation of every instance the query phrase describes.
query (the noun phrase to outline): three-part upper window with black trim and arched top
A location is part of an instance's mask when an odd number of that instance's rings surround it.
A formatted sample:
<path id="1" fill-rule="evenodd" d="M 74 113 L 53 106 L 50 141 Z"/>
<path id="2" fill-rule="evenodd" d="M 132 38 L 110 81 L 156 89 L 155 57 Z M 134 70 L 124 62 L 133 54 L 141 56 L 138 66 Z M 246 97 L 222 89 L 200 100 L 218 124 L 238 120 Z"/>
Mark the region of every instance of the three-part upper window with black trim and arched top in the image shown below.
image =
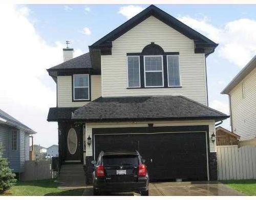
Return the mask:
<path id="1" fill-rule="evenodd" d="M 141 53 L 127 54 L 128 87 L 180 86 L 178 52 L 164 52 L 154 42 Z"/>

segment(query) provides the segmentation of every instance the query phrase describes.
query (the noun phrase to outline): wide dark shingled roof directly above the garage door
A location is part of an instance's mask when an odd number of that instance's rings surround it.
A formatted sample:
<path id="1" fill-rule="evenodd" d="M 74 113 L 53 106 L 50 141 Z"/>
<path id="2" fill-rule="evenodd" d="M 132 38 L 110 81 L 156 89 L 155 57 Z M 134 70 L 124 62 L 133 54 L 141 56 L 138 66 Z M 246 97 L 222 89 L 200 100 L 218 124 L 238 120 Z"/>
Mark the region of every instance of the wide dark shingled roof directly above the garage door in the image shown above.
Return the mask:
<path id="1" fill-rule="evenodd" d="M 85 121 L 215 119 L 229 116 L 183 96 L 98 98 L 75 110 Z"/>

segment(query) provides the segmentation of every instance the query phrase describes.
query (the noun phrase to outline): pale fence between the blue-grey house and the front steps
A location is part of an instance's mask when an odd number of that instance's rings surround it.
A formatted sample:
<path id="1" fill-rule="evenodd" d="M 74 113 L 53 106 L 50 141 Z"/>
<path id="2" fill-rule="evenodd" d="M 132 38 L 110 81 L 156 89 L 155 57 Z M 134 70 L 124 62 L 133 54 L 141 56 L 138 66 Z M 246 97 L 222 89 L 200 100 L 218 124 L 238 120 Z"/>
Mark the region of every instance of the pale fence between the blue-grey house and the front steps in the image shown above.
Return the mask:
<path id="1" fill-rule="evenodd" d="M 52 170 L 51 160 L 26 161 L 25 172 L 20 173 L 20 181 L 54 179 L 58 172 Z"/>

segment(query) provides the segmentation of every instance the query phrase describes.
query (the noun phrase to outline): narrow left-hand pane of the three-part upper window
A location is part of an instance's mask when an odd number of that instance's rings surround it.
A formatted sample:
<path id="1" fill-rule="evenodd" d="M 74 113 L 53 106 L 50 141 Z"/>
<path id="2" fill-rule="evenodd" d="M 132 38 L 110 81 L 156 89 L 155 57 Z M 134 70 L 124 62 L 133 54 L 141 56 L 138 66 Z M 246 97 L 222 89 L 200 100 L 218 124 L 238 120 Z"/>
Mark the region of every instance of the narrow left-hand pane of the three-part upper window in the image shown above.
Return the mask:
<path id="1" fill-rule="evenodd" d="M 140 57 L 127 56 L 128 87 L 140 87 Z"/>

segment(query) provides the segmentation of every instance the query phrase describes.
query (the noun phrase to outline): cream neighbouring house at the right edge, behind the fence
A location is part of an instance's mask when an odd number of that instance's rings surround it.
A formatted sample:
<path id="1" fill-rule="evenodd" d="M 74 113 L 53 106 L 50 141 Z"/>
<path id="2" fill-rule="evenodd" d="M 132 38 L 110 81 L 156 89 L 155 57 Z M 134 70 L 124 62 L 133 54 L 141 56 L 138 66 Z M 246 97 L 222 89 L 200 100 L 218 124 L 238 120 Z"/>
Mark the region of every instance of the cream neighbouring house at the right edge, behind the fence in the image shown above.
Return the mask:
<path id="1" fill-rule="evenodd" d="M 224 88 L 229 97 L 231 131 L 256 144 L 256 56 Z"/>

